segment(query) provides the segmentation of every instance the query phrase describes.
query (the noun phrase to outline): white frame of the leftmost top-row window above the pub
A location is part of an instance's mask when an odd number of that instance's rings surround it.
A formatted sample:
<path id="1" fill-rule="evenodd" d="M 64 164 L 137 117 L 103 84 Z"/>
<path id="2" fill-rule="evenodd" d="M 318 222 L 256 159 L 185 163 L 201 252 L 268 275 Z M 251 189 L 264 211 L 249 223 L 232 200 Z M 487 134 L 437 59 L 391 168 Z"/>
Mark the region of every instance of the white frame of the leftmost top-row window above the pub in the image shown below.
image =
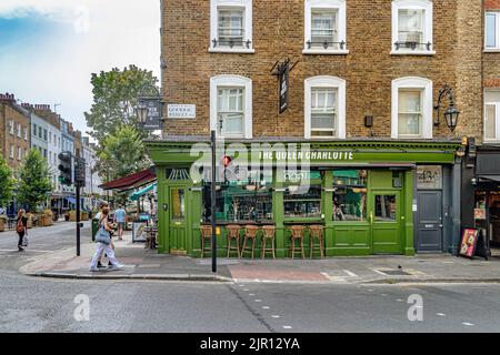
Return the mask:
<path id="1" fill-rule="evenodd" d="M 214 47 L 213 40 L 219 39 L 219 8 L 244 9 L 244 38 L 250 41 L 249 48 L 243 47 Z M 253 49 L 253 24 L 252 24 L 252 0 L 210 0 L 210 48 L 212 53 L 254 53 Z"/>

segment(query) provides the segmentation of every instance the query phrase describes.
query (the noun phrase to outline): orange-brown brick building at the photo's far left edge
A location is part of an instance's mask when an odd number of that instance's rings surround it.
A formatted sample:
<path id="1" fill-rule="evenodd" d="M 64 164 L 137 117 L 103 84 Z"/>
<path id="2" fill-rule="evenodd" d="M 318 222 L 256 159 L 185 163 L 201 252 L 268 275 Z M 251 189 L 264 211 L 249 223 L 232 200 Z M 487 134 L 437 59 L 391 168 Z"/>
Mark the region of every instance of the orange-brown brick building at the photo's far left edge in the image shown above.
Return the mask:
<path id="1" fill-rule="evenodd" d="M 0 94 L 0 151 L 14 171 L 30 150 L 30 134 L 29 112 L 13 94 Z"/>

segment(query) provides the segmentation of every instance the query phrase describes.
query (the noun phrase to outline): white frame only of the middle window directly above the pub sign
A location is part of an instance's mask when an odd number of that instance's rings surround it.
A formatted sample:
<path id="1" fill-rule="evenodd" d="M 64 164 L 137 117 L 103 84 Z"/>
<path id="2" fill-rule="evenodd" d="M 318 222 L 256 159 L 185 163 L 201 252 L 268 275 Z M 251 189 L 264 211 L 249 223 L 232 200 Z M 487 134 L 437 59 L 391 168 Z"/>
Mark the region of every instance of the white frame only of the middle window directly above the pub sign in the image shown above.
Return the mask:
<path id="1" fill-rule="evenodd" d="M 337 135 L 336 136 L 311 136 L 311 91 L 312 88 L 337 89 Z M 346 139 L 346 80 L 320 75 L 308 78 L 304 81 L 304 138 L 310 140 Z"/>

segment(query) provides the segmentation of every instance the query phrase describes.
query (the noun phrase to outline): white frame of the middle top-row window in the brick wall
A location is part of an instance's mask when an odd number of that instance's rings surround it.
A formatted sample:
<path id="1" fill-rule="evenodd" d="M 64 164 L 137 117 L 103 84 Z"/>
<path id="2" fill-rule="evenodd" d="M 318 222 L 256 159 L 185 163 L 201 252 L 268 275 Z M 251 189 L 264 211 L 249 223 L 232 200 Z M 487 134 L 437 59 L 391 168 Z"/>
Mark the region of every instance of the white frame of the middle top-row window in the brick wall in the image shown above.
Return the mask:
<path id="1" fill-rule="evenodd" d="M 344 42 L 344 49 L 309 49 L 308 41 L 311 40 L 312 31 L 312 11 L 314 10 L 336 10 L 338 13 L 338 41 Z M 348 54 L 347 49 L 347 6 L 346 0 L 306 0 L 304 4 L 304 41 L 303 54 Z"/>

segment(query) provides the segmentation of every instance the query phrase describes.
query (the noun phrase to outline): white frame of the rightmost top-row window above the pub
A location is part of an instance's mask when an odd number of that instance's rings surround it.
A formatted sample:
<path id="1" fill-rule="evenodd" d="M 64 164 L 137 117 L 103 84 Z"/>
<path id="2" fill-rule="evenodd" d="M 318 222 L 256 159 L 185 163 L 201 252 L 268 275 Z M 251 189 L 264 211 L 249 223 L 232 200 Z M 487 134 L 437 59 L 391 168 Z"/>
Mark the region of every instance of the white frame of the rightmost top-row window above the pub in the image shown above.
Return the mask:
<path id="1" fill-rule="evenodd" d="M 396 42 L 399 40 L 399 10 L 423 10 L 424 11 L 424 34 L 422 43 L 430 42 L 430 50 L 411 48 L 396 49 Z M 433 6 L 429 0 L 394 0 L 392 1 L 392 49 L 393 55 L 433 55 L 436 54 L 433 42 Z"/>

